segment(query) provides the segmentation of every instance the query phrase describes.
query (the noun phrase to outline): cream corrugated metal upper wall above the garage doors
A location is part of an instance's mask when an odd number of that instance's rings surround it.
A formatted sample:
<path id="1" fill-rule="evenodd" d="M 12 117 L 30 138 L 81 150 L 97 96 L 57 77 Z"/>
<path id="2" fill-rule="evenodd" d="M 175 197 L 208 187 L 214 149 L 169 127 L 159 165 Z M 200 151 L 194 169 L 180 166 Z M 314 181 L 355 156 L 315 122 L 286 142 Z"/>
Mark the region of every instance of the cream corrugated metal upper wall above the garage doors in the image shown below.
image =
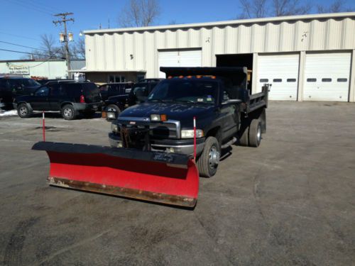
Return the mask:
<path id="1" fill-rule="evenodd" d="M 355 49 L 354 18 L 319 18 L 149 31 L 86 33 L 87 70 L 146 70 L 158 76 L 158 50 L 202 48 L 202 66 L 215 55 Z M 132 55 L 132 56 L 131 56 Z"/>

